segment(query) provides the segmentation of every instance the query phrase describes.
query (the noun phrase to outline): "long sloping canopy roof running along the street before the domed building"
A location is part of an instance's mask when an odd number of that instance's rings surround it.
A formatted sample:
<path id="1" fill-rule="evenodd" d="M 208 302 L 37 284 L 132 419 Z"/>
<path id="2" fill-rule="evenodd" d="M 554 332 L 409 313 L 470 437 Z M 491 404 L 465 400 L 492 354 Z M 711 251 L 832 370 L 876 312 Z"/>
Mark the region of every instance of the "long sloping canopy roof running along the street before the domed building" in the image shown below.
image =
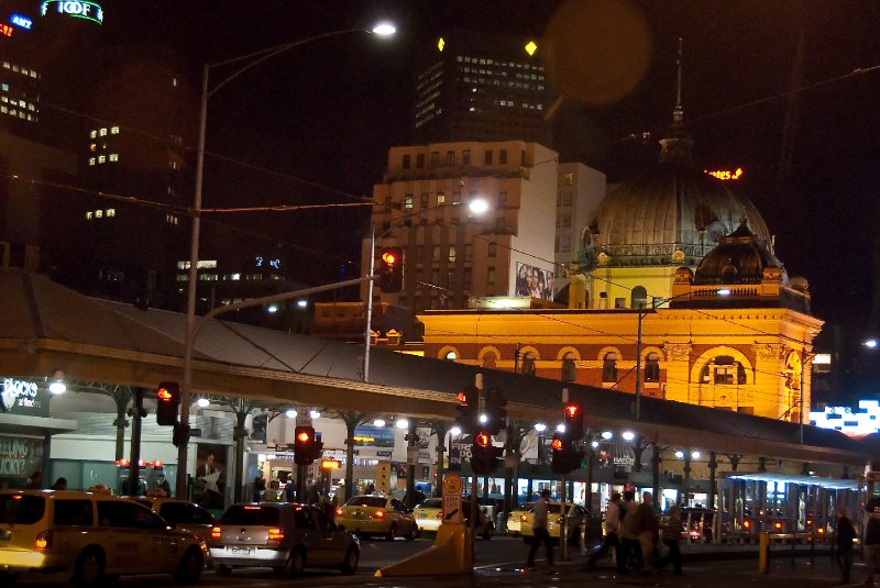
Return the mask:
<path id="1" fill-rule="evenodd" d="M 0 269 L 0 299 L 3 377 L 44 381 L 62 370 L 69 380 L 154 389 L 183 376 L 184 314 L 88 298 L 18 269 Z M 452 421 L 458 390 L 480 373 L 507 397 L 508 418 L 528 428 L 561 420 L 564 387 L 591 431 L 625 428 L 646 443 L 846 466 L 870 454 L 838 431 L 654 398 L 641 399 L 634 422 L 629 393 L 378 348 L 365 382 L 360 345 L 234 322 L 208 321 L 193 357 L 194 395 Z"/>

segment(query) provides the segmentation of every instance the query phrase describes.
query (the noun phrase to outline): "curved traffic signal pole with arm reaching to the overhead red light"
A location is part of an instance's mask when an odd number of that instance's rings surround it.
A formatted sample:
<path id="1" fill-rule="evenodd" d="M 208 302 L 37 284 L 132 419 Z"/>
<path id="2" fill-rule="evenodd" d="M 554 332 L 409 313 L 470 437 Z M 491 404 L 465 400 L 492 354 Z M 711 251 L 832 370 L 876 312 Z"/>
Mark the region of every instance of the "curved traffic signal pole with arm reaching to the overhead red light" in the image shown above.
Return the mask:
<path id="1" fill-rule="evenodd" d="M 190 277 L 190 279 L 193 279 Z M 180 431 L 183 432 L 180 444 L 177 446 L 177 484 L 175 486 L 175 496 L 178 498 L 186 498 L 187 495 L 187 462 L 189 461 L 189 408 L 193 403 L 193 347 L 196 343 L 201 328 L 209 320 L 234 310 L 260 307 L 263 304 L 271 304 L 273 302 L 282 302 L 290 300 L 300 296 L 309 296 L 318 292 L 326 292 L 329 290 L 338 290 L 340 288 L 348 288 L 349 286 L 358 286 L 365 281 L 373 281 L 376 276 L 365 276 L 363 278 L 350 279 L 344 281 L 337 281 L 327 284 L 324 286 L 316 286 L 314 288 L 304 288 L 301 290 L 293 290 L 289 292 L 280 292 L 273 296 L 264 296 L 261 298 L 250 298 L 235 302 L 232 304 L 224 304 L 210 310 L 204 317 L 199 317 L 194 323 L 191 329 L 187 329 L 186 340 L 184 341 L 184 381 L 180 389 Z M 238 473 L 241 476 L 241 473 Z"/>

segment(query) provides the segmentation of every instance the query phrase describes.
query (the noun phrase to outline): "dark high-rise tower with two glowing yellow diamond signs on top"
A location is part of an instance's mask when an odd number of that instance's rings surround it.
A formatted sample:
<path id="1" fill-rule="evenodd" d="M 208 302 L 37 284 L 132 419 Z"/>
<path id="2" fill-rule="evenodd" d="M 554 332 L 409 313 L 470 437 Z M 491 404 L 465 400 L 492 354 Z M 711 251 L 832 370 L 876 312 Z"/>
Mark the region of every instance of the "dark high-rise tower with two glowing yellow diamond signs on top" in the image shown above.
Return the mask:
<path id="1" fill-rule="evenodd" d="M 550 146 L 541 48 L 527 37 L 455 30 L 420 58 L 413 142 L 526 141 Z"/>

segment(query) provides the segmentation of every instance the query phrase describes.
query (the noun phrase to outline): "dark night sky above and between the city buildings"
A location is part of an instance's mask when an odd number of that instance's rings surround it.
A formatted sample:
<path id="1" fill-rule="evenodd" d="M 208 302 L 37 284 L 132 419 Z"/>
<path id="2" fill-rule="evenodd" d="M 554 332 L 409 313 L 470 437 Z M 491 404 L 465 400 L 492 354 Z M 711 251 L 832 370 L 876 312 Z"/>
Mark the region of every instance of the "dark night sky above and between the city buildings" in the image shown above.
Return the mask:
<path id="1" fill-rule="evenodd" d="M 571 14 L 586 19 L 583 30 L 606 4 L 575 3 L 581 10 Z M 310 43 L 244 74 L 210 102 L 208 149 L 228 159 L 208 162 L 206 207 L 352 202 L 382 180 L 388 147 L 409 143 L 419 47 L 450 27 L 540 37 L 563 4 L 116 0 L 103 2 L 102 34 L 109 43 L 174 47 L 191 66 L 197 89 L 201 63 L 369 27 L 380 18 L 394 21 L 399 33 L 393 40 L 353 34 Z M 552 147 L 562 160 L 605 171 L 609 182 L 653 160 L 671 122 L 676 40 L 683 37 L 682 102 L 697 163 L 745 169 L 737 188 L 763 213 L 789 275 L 809 279 L 814 312 L 850 336 L 867 334 L 876 326 L 868 319 L 880 214 L 880 69 L 870 68 L 880 65 L 880 2 L 646 0 L 630 7 L 646 23 L 645 75 L 612 103 L 590 100 L 588 79 L 560 81 L 584 96 L 566 96 L 556 112 Z M 576 19 L 569 21 L 569 31 L 579 29 Z M 791 93 L 802 32 L 795 86 L 805 89 Z M 609 46 L 596 45 L 600 35 L 578 35 L 574 45 L 619 53 L 607 62 L 626 63 L 634 45 L 628 34 L 612 31 L 604 37 Z M 858 68 L 867 71 L 854 73 Z M 627 138 L 644 132 L 651 133 L 647 142 Z M 788 167 L 780 164 L 787 136 Z M 235 222 L 253 230 L 253 238 L 271 234 L 304 247 L 304 256 L 314 256 L 304 281 L 320 282 L 346 262 L 349 276 L 361 274 L 367 210 L 242 214 Z"/>

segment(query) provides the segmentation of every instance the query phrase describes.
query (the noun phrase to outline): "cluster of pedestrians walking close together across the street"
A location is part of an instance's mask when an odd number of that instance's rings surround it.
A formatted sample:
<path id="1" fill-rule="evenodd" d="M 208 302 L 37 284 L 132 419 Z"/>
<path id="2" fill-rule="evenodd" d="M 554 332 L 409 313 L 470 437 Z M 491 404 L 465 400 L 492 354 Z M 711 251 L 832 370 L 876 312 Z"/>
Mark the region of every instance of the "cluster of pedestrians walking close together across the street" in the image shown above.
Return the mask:
<path id="1" fill-rule="evenodd" d="M 681 509 L 671 507 L 666 524 L 661 525 L 651 492 L 644 492 L 639 503 L 635 502 L 635 496 L 631 490 L 623 496 L 620 492 L 612 495 L 603 522 L 602 545 L 587 565 L 594 569 L 603 555 L 614 551 L 618 574 L 626 575 L 631 570 L 649 573 L 672 564 L 673 574 L 681 576 L 679 542 L 684 530 Z"/>

